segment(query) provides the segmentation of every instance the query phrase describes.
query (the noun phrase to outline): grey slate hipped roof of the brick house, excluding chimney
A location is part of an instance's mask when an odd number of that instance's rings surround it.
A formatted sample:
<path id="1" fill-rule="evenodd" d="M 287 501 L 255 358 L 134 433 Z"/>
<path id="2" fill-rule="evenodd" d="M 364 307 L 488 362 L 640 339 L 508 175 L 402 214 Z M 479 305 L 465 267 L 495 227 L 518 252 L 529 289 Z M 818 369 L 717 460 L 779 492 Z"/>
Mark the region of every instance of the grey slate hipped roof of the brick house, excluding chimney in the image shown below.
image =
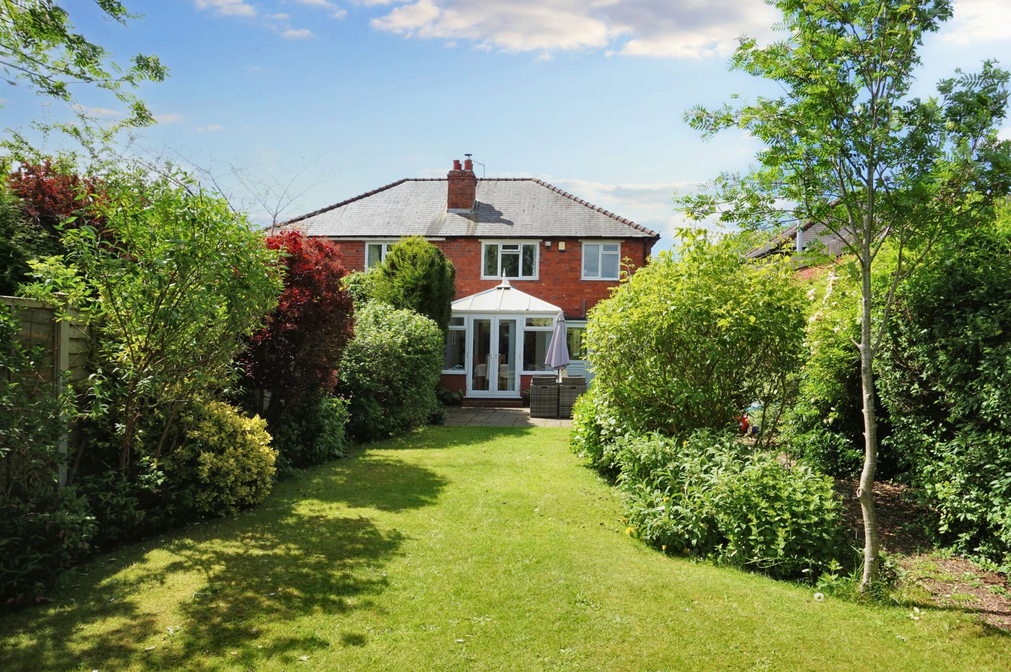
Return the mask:
<path id="1" fill-rule="evenodd" d="M 660 234 L 531 178 L 478 178 L 476 207 L 446 211 L 447 181 L 407 179 L 282 226 L 310 236 L 398 238 L 659 238 Z"/>

